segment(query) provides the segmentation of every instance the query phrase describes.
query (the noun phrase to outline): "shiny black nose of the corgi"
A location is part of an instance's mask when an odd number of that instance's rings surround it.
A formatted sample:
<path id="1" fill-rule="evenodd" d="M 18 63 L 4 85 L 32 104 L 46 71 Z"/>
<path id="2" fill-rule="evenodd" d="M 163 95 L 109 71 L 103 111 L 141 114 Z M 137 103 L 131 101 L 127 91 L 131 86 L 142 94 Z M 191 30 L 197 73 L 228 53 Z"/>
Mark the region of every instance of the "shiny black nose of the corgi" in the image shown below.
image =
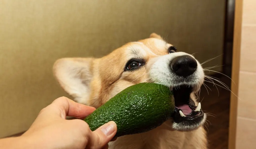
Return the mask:
<path id="1" fill-rule="evenodd" d="M 176 75 L 187 77 L 196 71 L 197 62 L 189 55 L 182 55 L 174 58 L 169 66 Z"/>

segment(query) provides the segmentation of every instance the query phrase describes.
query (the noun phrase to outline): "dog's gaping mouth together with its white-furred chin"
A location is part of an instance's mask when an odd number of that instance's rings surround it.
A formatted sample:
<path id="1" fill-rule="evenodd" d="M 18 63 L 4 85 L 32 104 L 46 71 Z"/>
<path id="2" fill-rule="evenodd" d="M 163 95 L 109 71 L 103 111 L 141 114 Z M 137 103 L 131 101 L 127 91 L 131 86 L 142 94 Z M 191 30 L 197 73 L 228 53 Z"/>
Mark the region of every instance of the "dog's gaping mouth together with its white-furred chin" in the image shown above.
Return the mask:
<path id="1" fill-rule="evenodd" d="M 193 131 L 204 124 L 206 115 L 201 109 L 201 104 L 197 106 L 191 99 L 194 94 L 192 86 L 182 85 L 173 87 L 175 110 L 172 114 L 172 128 L 177 131 Z"/>

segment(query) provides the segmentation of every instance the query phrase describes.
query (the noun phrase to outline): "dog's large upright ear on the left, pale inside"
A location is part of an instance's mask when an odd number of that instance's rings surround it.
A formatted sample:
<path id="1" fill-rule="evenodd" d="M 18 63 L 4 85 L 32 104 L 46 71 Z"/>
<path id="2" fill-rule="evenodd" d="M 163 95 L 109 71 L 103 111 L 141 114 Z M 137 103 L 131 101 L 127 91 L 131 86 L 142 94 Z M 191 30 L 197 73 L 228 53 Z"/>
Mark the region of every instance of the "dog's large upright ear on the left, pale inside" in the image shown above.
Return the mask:
<path id="1" fill-rule="evenodd" d="M 76 102 L 87 105 L 90 97 L 93 58 L 62 58 L 53 66 L 54 75 L 60 86 Z"/>

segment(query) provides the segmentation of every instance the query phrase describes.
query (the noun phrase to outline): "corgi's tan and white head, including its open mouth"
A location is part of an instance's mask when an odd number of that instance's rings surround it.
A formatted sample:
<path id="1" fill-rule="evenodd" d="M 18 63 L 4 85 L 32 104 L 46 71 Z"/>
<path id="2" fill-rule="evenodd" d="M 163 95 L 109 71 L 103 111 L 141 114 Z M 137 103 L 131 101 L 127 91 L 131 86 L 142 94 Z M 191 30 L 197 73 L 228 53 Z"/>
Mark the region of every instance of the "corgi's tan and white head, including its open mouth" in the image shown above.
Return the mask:
<path id="1" fill-rule="evenodd" d="M 169 121 L 174 130 L 197 129 L 206 119 L 196 99 L 204 81 L 203 68 L 194 56 L 177 52 L 155 33 L 102 58 L 59 59 L 54 64 L 54 74 L 75 101 L 95 108 L 137 83 L 169 86 L 176 106 Z"/>

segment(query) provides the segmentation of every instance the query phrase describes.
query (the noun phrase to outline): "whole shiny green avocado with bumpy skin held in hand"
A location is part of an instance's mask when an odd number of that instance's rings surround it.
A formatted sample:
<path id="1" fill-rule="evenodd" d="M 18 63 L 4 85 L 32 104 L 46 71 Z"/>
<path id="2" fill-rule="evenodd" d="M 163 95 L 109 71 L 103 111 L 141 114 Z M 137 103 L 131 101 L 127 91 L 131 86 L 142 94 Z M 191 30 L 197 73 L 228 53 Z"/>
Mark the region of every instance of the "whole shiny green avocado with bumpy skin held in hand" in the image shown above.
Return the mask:
<path id="1" fill-rule="evenodd" d="M 127 87 L 84 119 L 92 131 L 114 121 L 115 137 L 150 131 L 174 111 L 174 97 L 170 89 L 156 83 L 139 83 Z"/>

